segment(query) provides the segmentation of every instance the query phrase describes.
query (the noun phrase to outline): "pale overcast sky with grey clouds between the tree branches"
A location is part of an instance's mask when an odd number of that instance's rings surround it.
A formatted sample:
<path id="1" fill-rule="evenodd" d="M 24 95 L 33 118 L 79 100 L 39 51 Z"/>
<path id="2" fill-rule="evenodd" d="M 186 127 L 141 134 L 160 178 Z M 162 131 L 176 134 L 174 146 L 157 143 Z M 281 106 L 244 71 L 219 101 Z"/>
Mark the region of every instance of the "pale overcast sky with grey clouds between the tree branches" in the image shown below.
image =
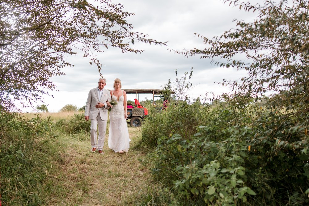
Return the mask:
<path id="1" fill-rule="evenodd" d="M 106 89 L 113 89 L 115 78 L 120 78 L 124 89 L 161 89 L 169 79 L 174 82 L 184 72 L 193 67 L 192 83 L 195 86 L 189 91 L 191 99 L 203 98 L 206 92 L 221 94 L 229 89 L 214 82 L 222 79 L 236 80 L 245 75 L 244 71 L 225 69 L 210 64 L 209 59 L 200 57 L 184 57 L 170 52 L 168 49 L 183 50 L 204 48 L 202 40 L 194 33 L 208 38 L 221 35 L 224 31 L 235 28 L 233 19 L 252 21 L 256 13 L 240 11 L 237 7 L 223 4 L 220 0 L 112 0 L 122 3 L 124 11 L 134 13 L 127 21 L 133 24 L 133 31 L 149 35 L 149 38 L 167 42 L 167 46 L 136 43 L 132 47 L 145 50 L 141 54 L 122 53 L 119 49 L 108 48 L 100 53 L 99 60 L 103 64 L 101 73 L 107 79 Z M 250 1 L 252 2 L 252 1 Z M 82 54 L 70 57 L 74 68 L 66 68 L 65 76 L 52 78 L 56 83 L 57 92 L 52 97 L 45 97 L 49 112 L 57 112 L 66 104 L 83 107 L 90 89 L 98 86 L 99 73 L 94 65 L 89 65 Z M 128 95 L 134 100 L 136 95 Z M 140 95 L 152 99 L 152 95 Z M 42 103 L 37 103 L 41 105 Z M 29 109 L 24 109 L 24 111 Z"/>

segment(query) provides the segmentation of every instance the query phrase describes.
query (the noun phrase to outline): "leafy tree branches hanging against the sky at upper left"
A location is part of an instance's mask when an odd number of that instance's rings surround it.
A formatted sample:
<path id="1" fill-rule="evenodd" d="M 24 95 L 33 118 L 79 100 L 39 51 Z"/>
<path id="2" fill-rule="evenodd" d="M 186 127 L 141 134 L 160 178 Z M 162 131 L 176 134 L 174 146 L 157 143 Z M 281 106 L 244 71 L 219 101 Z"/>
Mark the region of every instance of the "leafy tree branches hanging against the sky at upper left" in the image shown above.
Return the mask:
<path id="1" fill-rule="evenodd" d="M 13 99 L 37 101 L 55 90 L 50 77 L 63 75 L 62 68 L 74 66 L 68 55 L 82 52 L 102 69 L 96 53 L 108 47 L 140 53 L 135 41 L 164 44 L 131 31 L 125 20 L 134 15 L 121 4 L 99 0 L 4 0 L 0 3 L 0 106 L 15 109 Z M 25 104 L 23 104 L 25 106 Z"/>

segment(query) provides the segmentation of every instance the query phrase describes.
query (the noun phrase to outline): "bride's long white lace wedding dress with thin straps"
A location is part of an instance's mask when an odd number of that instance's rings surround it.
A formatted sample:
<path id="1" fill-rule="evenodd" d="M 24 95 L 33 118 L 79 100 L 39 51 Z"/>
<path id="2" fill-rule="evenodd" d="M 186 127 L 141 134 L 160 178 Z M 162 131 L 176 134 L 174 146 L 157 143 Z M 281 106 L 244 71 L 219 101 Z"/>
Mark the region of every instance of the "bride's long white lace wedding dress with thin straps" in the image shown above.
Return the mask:
<path id="1" fill-rule="evenodd" d="M 117 102 L 116 105 L 112 107 L 109 114 L 109 134 L 108 134 L 108 147 L 119 152 L 121 150 L 128 152 L 130 147 L 130 139 L 127 121 L 124 116 L 123 107 L 123 91 L 122 95 L 117 100 L 117 97 L 112 95 L 112 99 Z"/>

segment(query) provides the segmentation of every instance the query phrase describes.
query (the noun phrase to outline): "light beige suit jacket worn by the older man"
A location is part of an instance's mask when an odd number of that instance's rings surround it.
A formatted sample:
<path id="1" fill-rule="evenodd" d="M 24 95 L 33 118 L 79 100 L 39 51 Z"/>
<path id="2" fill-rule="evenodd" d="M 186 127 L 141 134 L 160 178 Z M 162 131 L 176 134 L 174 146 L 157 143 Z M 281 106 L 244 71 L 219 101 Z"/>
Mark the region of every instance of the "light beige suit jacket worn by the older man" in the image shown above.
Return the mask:
<path id="1" fill-rule="evenodd" d="M 98 96 L 98 87 L 95 87 L 89 91 L 87 103 L 85 107 L 85 116 L 89 116 L 89 119 L 95 119 L 98 114 L 100 114 L 102 120 L 107 120 L 107 103 L 111 101 L 111 95 L 110 92 L 107 89 L 103 88 L 103 94 L 101 99 L 99 100 Z M 98 102 L 104 103 L 104 107 L 96 108 L 95 105 L 98 104 Z"/>

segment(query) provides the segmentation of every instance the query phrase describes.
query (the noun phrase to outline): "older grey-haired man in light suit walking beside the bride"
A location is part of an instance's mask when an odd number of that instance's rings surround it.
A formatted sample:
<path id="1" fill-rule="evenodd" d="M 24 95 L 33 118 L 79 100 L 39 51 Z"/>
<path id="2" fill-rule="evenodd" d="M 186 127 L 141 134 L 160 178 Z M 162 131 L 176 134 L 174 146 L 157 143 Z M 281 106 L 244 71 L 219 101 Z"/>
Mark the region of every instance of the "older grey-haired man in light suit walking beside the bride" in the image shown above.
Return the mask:
<path id="1" fill-rule="evenodd" d="M 99 85 L 89 91 L 87 103 L 85 107 L 85 120 L 90 119 L 90 140 L 91 140 L 91 152 L 98 150 L 100 154 L 103 154 L 106 123 L 107 123 L 107 109 L 112 107 L 109 103 L 111 101 L 110 92 L 104 89 L 106 85 L 105 78 L 99 78 Z M 97 125 L 99 128 L 99 137 L 97 141 Z"/>

